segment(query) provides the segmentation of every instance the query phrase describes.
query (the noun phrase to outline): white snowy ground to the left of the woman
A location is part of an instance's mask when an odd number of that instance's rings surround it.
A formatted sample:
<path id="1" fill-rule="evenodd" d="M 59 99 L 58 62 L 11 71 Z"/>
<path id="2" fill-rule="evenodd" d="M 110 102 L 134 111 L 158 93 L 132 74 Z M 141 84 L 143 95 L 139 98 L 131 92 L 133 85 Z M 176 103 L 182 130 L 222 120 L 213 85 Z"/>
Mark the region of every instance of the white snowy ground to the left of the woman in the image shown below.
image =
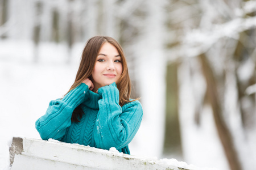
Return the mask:
<path id="1" fill-rule="evenodd" d="M 13 136 L 40 138 L 35 129 L 36 119 L 45 113 L 50 100 L 67 92 L 77 69 L 75 64 L 61 62 L 60 54 L 48 55 L 35 64 L 32 50 L 27 48 L 30 43 L 7 44 L 0 44 L 0 169 L 8 165 Z M 45 51 L 52 54 L 55 50 Z M 79 61 L 79 57 L 73 60 L 76 59 Z"/>

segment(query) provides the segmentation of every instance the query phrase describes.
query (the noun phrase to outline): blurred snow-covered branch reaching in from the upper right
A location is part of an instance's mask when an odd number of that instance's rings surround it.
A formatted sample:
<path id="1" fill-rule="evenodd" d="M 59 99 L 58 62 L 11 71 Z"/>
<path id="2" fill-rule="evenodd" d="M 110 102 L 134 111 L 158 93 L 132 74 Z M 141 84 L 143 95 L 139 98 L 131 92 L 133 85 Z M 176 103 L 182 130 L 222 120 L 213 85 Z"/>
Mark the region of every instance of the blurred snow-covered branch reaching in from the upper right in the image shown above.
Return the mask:
<path id="1" fill-rule="evenodd" d="M 188 32 L 181 42 L 183 49 L 181 56 L 195 57 L 206 52 L 214 43 L 224 37 L 238 39 L 239 33 L 256 27 L 256 16 L 251 18 L 237 18 L 224 24 L 215 25 L 211 30 L 195 29 Z"/>

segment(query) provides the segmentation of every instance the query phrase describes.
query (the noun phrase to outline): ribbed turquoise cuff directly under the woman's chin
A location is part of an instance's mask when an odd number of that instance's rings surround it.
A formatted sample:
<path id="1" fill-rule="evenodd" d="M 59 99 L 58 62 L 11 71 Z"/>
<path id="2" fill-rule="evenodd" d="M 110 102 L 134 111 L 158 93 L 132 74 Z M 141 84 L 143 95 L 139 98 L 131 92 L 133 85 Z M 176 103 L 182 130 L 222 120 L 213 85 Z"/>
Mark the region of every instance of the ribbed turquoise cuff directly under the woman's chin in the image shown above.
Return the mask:
<path id="1" fill-rule="evenodd" d="M 102 96 L 102 99 L 108 100 L 112 103 L 119 103 L 119 90 L 117 84 L 112 83 L 108 86 L 104 86 L 98 89 L 98 94 Z"/>

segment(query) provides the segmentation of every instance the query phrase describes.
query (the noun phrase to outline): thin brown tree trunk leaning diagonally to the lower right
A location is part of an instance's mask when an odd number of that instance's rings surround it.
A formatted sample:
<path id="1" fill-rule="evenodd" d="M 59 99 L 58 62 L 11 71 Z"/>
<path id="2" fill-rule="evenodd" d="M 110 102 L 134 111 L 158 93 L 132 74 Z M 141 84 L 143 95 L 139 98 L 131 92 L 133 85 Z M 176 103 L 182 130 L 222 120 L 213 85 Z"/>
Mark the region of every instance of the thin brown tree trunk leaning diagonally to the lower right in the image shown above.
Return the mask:
<path id="1" fill-rule="evenodd" d="M 234 147 L 232 135 L 225 124 L 222 117 L 222 107 L 220 98 L 217 91 L 217 81 L 211 69 L 208 59 L 205 54 L 199 56 L 202 71 L 207 83 L 207 97 L 210 105 L 212 106 L 213 117 L 220 137 L 222 146 L 224 147 L 226 158 L 228 159 L 229 167 L 232 170 L 241 170 L 241 164 L 238 160 L 237 151 Z"/>

